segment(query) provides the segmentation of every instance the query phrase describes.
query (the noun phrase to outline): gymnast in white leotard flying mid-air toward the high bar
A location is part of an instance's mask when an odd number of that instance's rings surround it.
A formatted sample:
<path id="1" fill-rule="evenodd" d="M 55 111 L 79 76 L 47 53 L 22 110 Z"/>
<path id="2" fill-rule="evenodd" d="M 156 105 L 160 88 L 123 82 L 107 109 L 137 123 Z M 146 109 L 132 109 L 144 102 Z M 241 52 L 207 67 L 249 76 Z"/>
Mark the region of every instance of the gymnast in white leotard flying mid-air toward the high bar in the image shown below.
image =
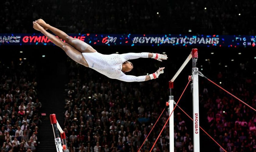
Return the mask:
<path id="1" fill-rule="evenodd" d="M 148 81 L 151 79 L 158 78 L 158 76 L 164 73 L 164 68 L 159 68 L 155 73 L 144 75 L 144 76 L 133 76 L 126 75 L 125 72 L 129 72 L 133 69 L 133 64 L 128 61 L 132 59 L 143 58 L 154 58 L 156 60 L 162 61 L 166 60 L 168 57 L 165 54 L 157 53 L 126 53 L 126 54 L 101 54 L 98 53 L 89 44 L 85 43 L 76 38 L 68 36 L 65 32 L 46 24 L 44 20 L 38 19 L 33 22 L 33 28 L 43 33 L 48 37 L 55 45 L 62 48 L 66 54 L 79 64 L 85 67 L 90 67 L 101 74 L 104 74 L 108 78 L 118 79 L 126 82 L 133 81 Z M 51 30 L 56 36 L 48 33 L 46 30 Z M 62 40 L 65 40 L 63 42 Z"/>

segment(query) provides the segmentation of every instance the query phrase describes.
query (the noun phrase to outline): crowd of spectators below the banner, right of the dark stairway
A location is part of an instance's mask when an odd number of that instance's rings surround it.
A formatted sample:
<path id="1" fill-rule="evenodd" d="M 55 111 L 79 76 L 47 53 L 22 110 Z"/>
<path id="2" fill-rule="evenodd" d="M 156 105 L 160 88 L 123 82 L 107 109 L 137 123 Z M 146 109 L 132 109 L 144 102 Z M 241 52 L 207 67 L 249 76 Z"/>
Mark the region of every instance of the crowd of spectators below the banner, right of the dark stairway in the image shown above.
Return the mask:
<path id="1" fill-rule="evenodd" d="M 204 68 L 211 71 L 214 81 L 222 81 L 222 86 L 256 108 L 256 80 L 248 75 L 252 71 L 250 64 L 229 70 L 220 68 L 220 64 L 215 68 L 210 64 L 215 63 L 209 62 Z M 169 90 L 163 85 L 165 76 L 127 83 L 109 79 L 70 59 L 67 66 L 69 83 L 66 85 L 64 131 L 69 151 L 137 151 L 168 100 Z M 143 66 L 141 62 L 140 66 Z M 149 68 L 144 67 L 134 68 L 131 74 L 146 74 Z M 204 88 L 200 89 L 201 126 L 227 151 L 255 151 L 256 115 L 253 110 L 205 80 L 200 81 L 200 87 Z M 187 126 L 192 126 L 191 120 L 178 109 L 174 115 L 175 151 L 193 151 L 192 127 Z M 167 118 L 166 110 L 142 147 L 144 151 L 150 151 Z M 168 125 L 153 151 L 169 151 Z M 205 135 L 202 131 L 200 134 Z M 201 139 L 201 144 L 204 143 L 210 144 L 213 151 L 223 151 L 208 136 Z"/>

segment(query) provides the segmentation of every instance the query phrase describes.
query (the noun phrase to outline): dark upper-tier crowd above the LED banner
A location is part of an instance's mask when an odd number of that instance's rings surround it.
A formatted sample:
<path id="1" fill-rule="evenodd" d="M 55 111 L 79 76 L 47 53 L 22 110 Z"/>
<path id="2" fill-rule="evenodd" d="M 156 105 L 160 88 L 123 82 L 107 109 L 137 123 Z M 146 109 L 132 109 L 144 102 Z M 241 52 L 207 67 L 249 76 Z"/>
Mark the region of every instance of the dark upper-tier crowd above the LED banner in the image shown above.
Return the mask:
<path id="1" fill-rule="evenodd" d="M 254 1 L 231 0 L 5 0 L 0 33 L 34 33 L 32 21 L 42 18 L 68 33 L 253 35 L 255 10 Z"/>

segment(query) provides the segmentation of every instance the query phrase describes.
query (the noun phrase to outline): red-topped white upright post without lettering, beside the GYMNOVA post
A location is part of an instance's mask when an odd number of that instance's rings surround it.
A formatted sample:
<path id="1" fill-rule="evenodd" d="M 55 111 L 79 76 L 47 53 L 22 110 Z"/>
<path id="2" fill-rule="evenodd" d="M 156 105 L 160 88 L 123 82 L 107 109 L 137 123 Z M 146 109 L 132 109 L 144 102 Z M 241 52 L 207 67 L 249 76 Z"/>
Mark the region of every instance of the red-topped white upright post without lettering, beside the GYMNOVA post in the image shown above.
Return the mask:
<path id="1" fill-rule="evenodd" d="M 169 81 L 169 89 L 170 89 L 170 96 L 169 96 L 169 116 L 172 113 L 170 119 L 169 119 L 169 151 L 174 152 L 174 112 L 173 110 L 173 96 L 172 96 L 172 89 L 173 89 L 173 82 Z"/>

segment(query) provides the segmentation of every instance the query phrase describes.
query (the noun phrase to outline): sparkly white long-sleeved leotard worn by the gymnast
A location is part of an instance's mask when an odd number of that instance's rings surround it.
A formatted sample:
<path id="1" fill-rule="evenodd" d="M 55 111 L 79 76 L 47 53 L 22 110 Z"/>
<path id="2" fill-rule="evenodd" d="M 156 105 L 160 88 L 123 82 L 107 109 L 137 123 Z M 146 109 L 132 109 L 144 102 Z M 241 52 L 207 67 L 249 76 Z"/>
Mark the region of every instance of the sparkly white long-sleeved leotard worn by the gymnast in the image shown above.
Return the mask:
<path id="1" fill-rule="evenodd" d="M 126 75 L 122 71 L 122 64 L 127 60 L 137 59 L 140 57 L 148 58 L 148 53 L 126 53 L 126 54 L 101 54 L 82 53 L 90 68 L 104 74 L 108 78 L 118 79 L 126 82 L 145 81 L 144 76 Z"/>

